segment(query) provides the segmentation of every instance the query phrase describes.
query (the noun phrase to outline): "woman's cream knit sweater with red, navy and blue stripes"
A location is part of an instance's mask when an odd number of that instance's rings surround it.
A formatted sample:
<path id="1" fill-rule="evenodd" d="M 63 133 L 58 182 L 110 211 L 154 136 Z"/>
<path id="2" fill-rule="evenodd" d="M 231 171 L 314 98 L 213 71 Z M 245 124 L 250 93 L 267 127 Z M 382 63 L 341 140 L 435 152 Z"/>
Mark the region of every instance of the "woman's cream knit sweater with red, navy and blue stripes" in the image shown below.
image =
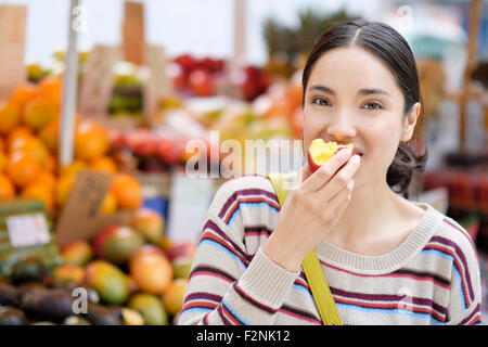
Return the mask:
<path id="1" fill-rule="evenodd" d="M 325 240 L 316 252 L 344 324 L 480 324 L 480 275 L 467 232 L 428 204 L 395 249 L 365 256 Z M 321 324 L 304 272 L 261 246 L 280 205 L 267 177 L 216 193 L 192 264 L 179 324 Z"/>

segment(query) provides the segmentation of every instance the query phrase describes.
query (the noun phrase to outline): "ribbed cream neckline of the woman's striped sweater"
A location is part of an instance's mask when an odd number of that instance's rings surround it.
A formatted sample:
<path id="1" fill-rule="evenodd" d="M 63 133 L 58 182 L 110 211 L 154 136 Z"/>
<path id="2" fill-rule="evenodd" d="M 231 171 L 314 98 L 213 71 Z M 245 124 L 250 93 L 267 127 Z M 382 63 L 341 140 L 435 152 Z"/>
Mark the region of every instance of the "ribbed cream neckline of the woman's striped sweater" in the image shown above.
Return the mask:
<path id="1" fill-rule="evenodd" d="M 362 255 L 323 240 L 316 247 L 317 256 L 329 265 L 364 274 L 383 274 L 398 270 L 422 250 L 442 220 L 442 215 L 429 204 L 414 204 L 424 208 L 425 213 L 414 230 L 390 252 L 381 255 Z"/>

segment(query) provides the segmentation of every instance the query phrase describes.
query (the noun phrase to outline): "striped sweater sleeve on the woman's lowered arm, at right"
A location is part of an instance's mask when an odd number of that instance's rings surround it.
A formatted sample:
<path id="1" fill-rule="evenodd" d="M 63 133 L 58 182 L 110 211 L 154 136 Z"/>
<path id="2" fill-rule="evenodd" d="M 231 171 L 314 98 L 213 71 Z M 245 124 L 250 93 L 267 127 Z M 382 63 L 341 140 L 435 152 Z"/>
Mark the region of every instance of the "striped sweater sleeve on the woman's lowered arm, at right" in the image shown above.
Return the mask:
<path id="1" fill-rule="evenodd" d="M 452 271 L 449 292 L 448 325 L 481 324 L 481 285 L 476 248 L 468 233 L 452 219 L 459 233 L 453 239 Z"/>

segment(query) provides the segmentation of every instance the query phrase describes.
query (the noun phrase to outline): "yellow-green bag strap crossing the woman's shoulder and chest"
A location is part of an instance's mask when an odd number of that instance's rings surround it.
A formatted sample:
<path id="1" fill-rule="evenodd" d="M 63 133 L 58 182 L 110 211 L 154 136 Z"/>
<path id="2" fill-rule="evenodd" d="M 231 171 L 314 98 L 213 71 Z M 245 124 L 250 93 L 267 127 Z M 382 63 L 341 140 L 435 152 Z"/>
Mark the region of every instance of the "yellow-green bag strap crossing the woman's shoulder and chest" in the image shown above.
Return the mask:
<path id="1" fill-rule="evenodd" d="M 283 172 L 270 172 L 268 174 L 268 177 L 274 187 L 280 206 L 283 206 L 290 192 L 291 185 L 288 179 L 286 179 Z M 305 257 L 301 267 L 304 268 L 305 277 L 310 285 L 323 324 L 344 325 L 337 311 L 337 307 L 335 306 L 331 288 L 329 287 L 322 267 L 319 262 L 319 258 L 313 248 Z"/>

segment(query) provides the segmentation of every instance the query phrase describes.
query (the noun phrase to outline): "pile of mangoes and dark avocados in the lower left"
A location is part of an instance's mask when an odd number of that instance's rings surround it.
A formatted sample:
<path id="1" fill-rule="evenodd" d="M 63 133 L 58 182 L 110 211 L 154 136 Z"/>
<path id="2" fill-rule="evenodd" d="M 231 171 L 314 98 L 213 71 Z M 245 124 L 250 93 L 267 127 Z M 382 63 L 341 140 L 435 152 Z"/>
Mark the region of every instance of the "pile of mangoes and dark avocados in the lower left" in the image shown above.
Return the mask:
<path id="1" fill-rule="evenodd" d="M 195 245 L 171 242 L 164 228 L 159 214 L 141 208 L 128 226 L 63 245 L 61 265 L 17 261 L 0 278 L 0 324 L 176 323 Z"/>

